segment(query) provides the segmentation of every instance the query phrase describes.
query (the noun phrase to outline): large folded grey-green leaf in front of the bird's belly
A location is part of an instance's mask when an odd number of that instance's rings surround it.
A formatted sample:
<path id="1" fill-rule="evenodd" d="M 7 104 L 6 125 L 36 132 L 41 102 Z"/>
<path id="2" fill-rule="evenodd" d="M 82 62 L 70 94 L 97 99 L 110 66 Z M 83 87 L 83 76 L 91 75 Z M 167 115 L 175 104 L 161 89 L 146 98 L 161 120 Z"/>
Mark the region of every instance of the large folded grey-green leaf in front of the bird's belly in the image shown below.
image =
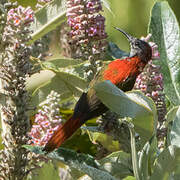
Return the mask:
<path id="1" fill-rule="evenodd" d="M 157 122 L 156 107 L 153 101 L 140 91 L 124 93 L 110 81 L 94 87 L 98 98 L 120 117 L 130 117 L 135 130 L 142 140 L 148 140 L 154 133 Z"/>

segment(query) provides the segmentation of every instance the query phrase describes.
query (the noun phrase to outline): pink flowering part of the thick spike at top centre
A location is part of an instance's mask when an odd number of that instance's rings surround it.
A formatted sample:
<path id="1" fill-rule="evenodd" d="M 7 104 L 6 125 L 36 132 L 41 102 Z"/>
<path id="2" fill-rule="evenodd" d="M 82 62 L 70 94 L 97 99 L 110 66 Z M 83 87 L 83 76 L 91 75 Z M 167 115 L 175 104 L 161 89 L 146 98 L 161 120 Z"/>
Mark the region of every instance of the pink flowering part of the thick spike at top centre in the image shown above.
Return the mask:
<path id="1" fill-rule="evenodd" d="M 84 59 L 96 54 L 103 54 L 107 43 L 105 41 L 105 18 L 100 14 L 102 5 L 100 0 L 68 0 L 67 13 L 68 25 L 71 28 L 69 38 L 72 39 L 72 47 L 76 58 L 83 55 Z M 93 45 L 96 44 L 96 48 Z M 73 46 L 72 45 L 72 46 Z M 86 53 L 84 53 L 86 52 Z M 99 56 L 99 57 L 98 57 Z"/>

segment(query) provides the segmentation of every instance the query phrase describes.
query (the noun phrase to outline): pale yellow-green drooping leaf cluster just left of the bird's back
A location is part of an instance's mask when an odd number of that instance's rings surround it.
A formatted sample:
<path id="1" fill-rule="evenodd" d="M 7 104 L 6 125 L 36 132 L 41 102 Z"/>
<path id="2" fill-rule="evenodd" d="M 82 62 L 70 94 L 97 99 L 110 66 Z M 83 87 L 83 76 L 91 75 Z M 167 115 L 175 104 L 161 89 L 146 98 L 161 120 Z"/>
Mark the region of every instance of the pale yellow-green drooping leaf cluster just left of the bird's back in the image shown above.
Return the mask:
<path id="1" fill-rule="evenodd" d="M 85 63 L 72 59 L 43 62 L 44 70 L 27 81 L 27 89 L 32 92 L 32 104 L 37 106 L 44 101 L 51 90 L 58 92 L 61 100 L 79 97 L 88 86 L 84 77 Z"/>

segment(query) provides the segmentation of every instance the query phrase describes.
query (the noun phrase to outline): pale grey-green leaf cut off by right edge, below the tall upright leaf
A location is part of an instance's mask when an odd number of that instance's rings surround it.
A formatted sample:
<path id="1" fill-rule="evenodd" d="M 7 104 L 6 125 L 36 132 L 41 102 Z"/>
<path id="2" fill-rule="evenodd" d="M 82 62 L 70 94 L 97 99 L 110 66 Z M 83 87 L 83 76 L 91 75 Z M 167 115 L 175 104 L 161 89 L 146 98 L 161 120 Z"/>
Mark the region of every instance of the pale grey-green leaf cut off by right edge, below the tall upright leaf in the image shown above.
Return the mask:
<path id="1" fill-rule="evenodd" d="M 172 111 L 173 112 L 173 111 Z M 172 126 L 171 126 L 171 130 L 170 130 L 170 143 L 172 145 L 176 145 L 178 147 L 180 147 L 180 106 L 178 107 L 178 110 L 174 114 L 174 118 L 172 118 L 173 122 L 172 122 Z"/>

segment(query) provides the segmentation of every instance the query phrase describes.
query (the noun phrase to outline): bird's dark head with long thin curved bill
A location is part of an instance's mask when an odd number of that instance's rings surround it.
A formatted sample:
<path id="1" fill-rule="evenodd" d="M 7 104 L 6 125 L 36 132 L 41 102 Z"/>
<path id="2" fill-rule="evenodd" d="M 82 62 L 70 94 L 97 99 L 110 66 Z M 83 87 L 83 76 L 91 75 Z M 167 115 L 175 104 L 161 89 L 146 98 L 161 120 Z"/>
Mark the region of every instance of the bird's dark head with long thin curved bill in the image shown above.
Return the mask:
<path id="1" fill-rule="evenodd" d="M 115 27 L 115 29 L 123 33 L 130 42 L 130 57 L 138 56 L 143 62 L 148 63 L 148 61 L 152 58 L 151 46 L 147 42 L 135 38 L 117 27 Z"/>

